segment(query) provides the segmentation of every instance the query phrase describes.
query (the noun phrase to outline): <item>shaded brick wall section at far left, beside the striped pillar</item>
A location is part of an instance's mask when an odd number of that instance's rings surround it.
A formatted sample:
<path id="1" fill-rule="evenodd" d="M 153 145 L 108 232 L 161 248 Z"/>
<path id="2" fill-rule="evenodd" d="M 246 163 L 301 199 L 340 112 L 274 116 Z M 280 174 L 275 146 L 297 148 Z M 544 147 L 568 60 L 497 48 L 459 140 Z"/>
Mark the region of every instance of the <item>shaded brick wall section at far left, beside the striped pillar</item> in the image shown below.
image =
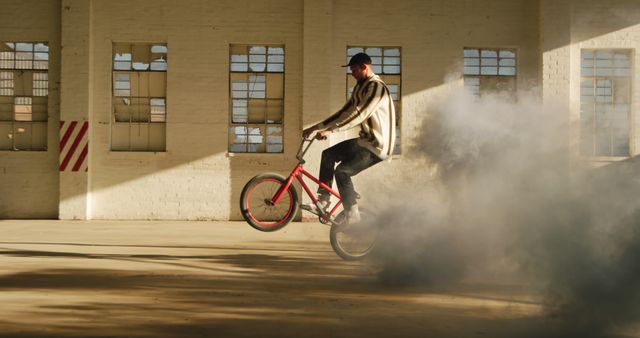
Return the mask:
<path id="1" fill-rule="evenodd" d="M 47 150 L 0 151 L 0 218 L 57 218 L 60 0 L 3 0 L 0 41 L 49 42 Z"/>

